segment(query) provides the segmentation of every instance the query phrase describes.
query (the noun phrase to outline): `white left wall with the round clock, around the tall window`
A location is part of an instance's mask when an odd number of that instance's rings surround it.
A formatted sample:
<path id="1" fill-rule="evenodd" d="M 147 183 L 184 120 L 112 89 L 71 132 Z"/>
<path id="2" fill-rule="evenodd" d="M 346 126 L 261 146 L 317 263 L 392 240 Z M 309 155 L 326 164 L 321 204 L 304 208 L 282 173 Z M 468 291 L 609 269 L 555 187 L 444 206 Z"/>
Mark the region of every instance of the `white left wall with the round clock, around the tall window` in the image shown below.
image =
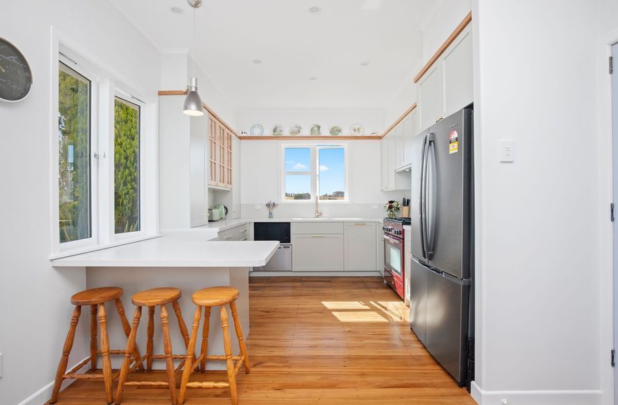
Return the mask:
<path id="1" fill-rule="evenodd" d="M 108 1 L 3 2 L 1 36 L 28 59 L 34 86 L 21 103 L 0 103 L 2 404 L 16 404 L 53 381 L 73 310 L 69 297 L 86 287 L 84 270 L 55 270 L 48 260 L 56 190 L 49 175 L 52 24 L 84 56 L 122 72 L 155 100 L 159 88 L 159 52 Z M 84 337 L 78 335 L 69 364 L 87 356 Z"/>

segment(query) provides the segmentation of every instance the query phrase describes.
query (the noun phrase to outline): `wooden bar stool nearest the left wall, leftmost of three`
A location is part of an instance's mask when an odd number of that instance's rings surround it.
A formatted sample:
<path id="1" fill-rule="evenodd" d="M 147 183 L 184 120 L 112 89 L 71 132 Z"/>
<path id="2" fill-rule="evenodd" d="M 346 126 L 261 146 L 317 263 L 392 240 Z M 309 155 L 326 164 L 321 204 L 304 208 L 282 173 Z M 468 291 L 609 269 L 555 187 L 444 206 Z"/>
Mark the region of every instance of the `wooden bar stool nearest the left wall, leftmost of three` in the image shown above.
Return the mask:
<path id="1" fill-rule="evenodd" d="M 58 370 L 56 372 L 56 381 L 54 383 L 54 389 L 52 390 L 52 398 L 50 404 L 55 404 L 58 399 L 58 393 L 60 392 L 60 386 L 62 381 L 69 378 L 81 378 L 81 379 L 96 379 L 103 378 L 105 383 L 105 393 L 108 404 L 113 402 L 112 381 L 118 376 L 118 373 L 112 374 L 112 364 L 110 361 L 111 354 L 125 354 L 124 350 L 110 350 L 110 343 L 107 333 L 107 315 L 105 310 L 106 302 L 115 302 L 116 311 L 120 316 L 122 322 L 122 329 L 124 334 L 129 337 L 131 327 L 127 316 L 124 315 L 124 307 L 122 307 L 122 288 L 119 287 L 101 287 L 92 288 L 91 290 L 80 291 L 71 297 L 71 304 L 75 305 L 73 310 L 73 317 L 71 318 L 71 327 L 69 327 L 69 334 L 66 335 L 64 341 L 64 348 L 62 350 L 62 358 L 58 364 Z M 80 362 L 76 367 L 73 367 L 71 371 L 65 374 L 66 364 L 69 362 L 69 354 L 71 354 L 71 348 L 73 348 L 73 341 L 75 340 L 75 332 L 77 329 L 78 321 L 82 311 L 82 305 L 90 306 L 90 357 Z M 99 328 L 101 329 L 101 350 L 96 348 L 96 318 L 99 318 Z M 90 362 L 90 371 L 96 370 L 96 358 L 101 355 L 103 358 L 103 373 L 102 374 L 76 374 L 82 367 Z M 139 359 L 140 353 L 136 346 L 131 348 L 129 358 L 135 360 Z M 138 366 L 143 369 L 141 364 Z"/>

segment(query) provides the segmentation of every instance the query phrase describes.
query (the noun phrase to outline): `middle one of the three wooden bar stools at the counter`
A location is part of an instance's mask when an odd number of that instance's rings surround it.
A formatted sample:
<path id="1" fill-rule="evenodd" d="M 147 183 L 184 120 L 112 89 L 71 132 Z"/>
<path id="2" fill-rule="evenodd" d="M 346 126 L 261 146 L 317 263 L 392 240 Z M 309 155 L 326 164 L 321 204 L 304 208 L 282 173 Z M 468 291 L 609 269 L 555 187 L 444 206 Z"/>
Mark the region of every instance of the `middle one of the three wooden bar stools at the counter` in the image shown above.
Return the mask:
<path id="1" fill-rule="evenodd" d="M 180 290 L 178 288 L 152 288 L 152 290 L 145 290 L 136 293 L 131 297 L 131 301 L 137 306 L 135 309 L 135 315 L 133 317 L 133 323 L 129 333 L 129 341 L 127 342 L 127 348 L 124 353 L 124 362 L 120 369 L 120 378 L 118 378 L 118 388 L 116 391 L 116 404 L 120 404 L 122 401 L 122 390 L 126 385 L 134 386 L 164 386 L 170 390 L 170 397 L 172 404 L 176 404 L 176 379 L 175 374 L 182 369 L 182 365 L 185 364 L 186 355 L 174 355 L 172 354 L 172 341 L 169 334 L 168 327 L 168 315 L 166 304 L 172 304 L 176 318 L 178 319 L 178 327 L 182 338 L 185 339 L 185 349 L 189 345 L 189 332 L 187 331 L 187 325 L 185 320 L 182 319 L 182 312 L 178 305 L 178 299 L 180 298 Z M 142 316 L 142 307 L 148 307 L 148 344 L 146 346 L 146 354 L 143 358 L 140 358 L 136 364 L 131 367 L 131 353 L 135 349 L 135 339 L 137 329 L 140 324 L 140 318 Z M 155 355 L 152 353 L 152 337 L 155 334 L 155 307 L 161 307 L 161 327 L 163 329 L 163 348 L 164 355 Z M 127 376 L 133 371 L 136 365 L 141 364 L 146 360 L 146 368 L 148 371 L 152 369 L 152 359 L 164 359 L 165 368 L 167 371 L 167 381 L 127 381 Z M 178 369 L 174 369 L 174 359 L 182 359 L 182 362 L 178 366 Z"/>

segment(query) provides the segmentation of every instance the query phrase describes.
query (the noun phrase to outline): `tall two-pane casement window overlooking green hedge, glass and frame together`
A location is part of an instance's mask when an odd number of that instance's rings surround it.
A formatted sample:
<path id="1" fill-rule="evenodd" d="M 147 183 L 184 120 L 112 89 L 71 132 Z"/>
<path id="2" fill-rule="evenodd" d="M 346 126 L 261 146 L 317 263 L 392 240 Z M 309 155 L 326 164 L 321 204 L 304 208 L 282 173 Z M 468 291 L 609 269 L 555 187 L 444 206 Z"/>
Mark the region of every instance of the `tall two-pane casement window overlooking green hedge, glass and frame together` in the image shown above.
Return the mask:
<path id="1" fill-rule="evenodd" d="M 57 62 L 52 257 L 154 236 L 156 222 L 146 233 L 144 221 L 146 104 L 78 55 Z"/>

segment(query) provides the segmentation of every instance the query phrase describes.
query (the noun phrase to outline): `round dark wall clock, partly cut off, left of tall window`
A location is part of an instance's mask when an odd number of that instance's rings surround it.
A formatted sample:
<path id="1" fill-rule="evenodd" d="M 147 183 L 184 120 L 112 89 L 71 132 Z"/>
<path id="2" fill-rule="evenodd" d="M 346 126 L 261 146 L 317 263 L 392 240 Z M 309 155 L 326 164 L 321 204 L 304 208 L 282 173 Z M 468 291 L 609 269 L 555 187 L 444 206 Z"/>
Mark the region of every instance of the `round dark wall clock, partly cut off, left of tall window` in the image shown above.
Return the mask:
<path id="1" fill-rule="evenodd" d="M 0 38 L 0 100 L 21 101 L 32 87 L 32 72 L 22 52 Z"/>

